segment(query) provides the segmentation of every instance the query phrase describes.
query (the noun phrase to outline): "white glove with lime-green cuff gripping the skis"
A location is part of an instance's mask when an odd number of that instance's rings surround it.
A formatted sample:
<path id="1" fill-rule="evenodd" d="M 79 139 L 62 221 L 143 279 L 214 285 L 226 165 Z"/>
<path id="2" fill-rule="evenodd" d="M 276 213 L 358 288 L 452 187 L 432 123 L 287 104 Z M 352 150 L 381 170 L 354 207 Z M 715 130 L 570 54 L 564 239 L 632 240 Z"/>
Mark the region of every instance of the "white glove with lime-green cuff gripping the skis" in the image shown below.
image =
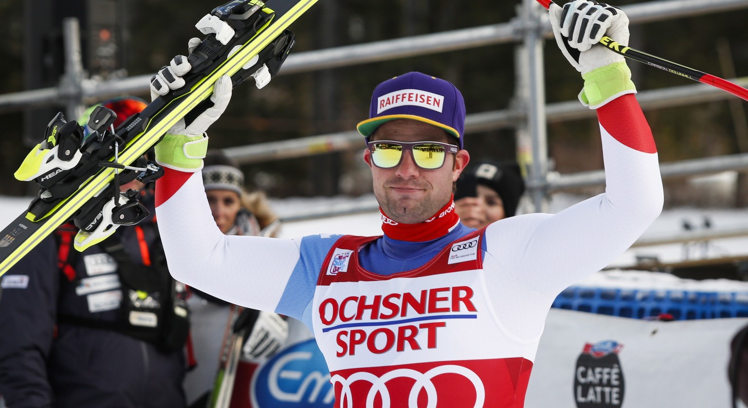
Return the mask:
<path id="1" fill-rule="evenodd" d="M 199 38 L 189 40 L 189 52 L 200 43 Z M 171 90 L 177 90 L 185 85 L 182 78 L 192 67 L 184 55 L 172 58 L 167 67 L 159 69 L 150 80 L 151 100 L 166 95 Z M 166 132 L 164 138 L 156 144 L 156 162 L 174 170 L 195 172 L 203 168 L 203 158 L 208 150 L 208 137 L 205 134 L 231 100 L 231 78 L 224 75 L 215 81 L 210 100 L 212 107 L 200 113 L 186 126 L 185 120 L 180 119 Z"/>

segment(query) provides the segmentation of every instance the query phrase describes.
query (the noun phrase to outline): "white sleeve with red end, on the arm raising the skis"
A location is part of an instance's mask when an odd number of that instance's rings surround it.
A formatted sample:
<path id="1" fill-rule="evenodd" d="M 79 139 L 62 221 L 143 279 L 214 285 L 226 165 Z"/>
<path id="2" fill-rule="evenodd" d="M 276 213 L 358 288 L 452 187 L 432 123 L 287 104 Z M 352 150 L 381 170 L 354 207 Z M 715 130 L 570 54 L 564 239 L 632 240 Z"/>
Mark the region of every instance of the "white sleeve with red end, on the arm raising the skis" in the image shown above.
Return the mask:
<path id="1" fill-rule="evenodd" d="M 174 279 L 230 303 L 275 311 L 299 259 L 296 241 L 224 235 L 200 172 L 166 170 L 156 182 L 156 215 Z"/>

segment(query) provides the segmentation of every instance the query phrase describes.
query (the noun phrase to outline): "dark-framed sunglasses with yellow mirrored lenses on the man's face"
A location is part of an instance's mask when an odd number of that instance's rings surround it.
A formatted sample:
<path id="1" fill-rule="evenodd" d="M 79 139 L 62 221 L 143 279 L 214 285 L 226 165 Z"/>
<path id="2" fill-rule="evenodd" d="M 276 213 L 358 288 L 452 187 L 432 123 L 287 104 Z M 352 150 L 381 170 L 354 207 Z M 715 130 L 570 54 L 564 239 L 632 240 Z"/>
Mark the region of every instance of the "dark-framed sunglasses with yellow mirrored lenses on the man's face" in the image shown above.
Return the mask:
<path id="1" fill-rule="evenodd" d="M 413 155 L 415 164 L 424 170 L 436 170 L 444 165 L 447 153 L 456 153 L 459 147 L 440 142 L 398 142 L 375 140 L 367 143 L 372 162 L 381 169 L 391 169 L 402 161 L 403 152 Z"/>

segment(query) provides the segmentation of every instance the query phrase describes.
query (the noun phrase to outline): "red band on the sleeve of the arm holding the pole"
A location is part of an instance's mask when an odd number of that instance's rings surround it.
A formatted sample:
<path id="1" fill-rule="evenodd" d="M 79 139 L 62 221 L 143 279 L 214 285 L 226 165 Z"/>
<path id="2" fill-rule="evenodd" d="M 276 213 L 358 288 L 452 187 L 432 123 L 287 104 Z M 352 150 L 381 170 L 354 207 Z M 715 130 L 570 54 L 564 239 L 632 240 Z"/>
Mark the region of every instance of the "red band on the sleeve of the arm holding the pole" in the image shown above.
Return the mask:
<path id="1" fill-rule="evenodd" d="M 600 124 L 614 139 L 640 152 L 657 152 L 652 130 L 633 94 L 613 99 L 597 111 Z"/>

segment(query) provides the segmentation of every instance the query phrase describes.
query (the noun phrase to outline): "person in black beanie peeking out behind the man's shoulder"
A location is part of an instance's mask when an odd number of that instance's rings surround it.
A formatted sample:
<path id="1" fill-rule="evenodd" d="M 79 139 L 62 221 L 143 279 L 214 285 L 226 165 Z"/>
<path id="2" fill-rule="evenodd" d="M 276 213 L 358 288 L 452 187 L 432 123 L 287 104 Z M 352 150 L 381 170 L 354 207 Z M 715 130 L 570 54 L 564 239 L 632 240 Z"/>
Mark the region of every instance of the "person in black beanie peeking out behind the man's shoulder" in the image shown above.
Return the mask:
<path id="1" fill-rule="evenodd" d="M 517 163 L 480 160 L 457 180 L 455 211 L 466 226 L 480 229 L 514 216 L 523 193 L 524 180 Z"/>

